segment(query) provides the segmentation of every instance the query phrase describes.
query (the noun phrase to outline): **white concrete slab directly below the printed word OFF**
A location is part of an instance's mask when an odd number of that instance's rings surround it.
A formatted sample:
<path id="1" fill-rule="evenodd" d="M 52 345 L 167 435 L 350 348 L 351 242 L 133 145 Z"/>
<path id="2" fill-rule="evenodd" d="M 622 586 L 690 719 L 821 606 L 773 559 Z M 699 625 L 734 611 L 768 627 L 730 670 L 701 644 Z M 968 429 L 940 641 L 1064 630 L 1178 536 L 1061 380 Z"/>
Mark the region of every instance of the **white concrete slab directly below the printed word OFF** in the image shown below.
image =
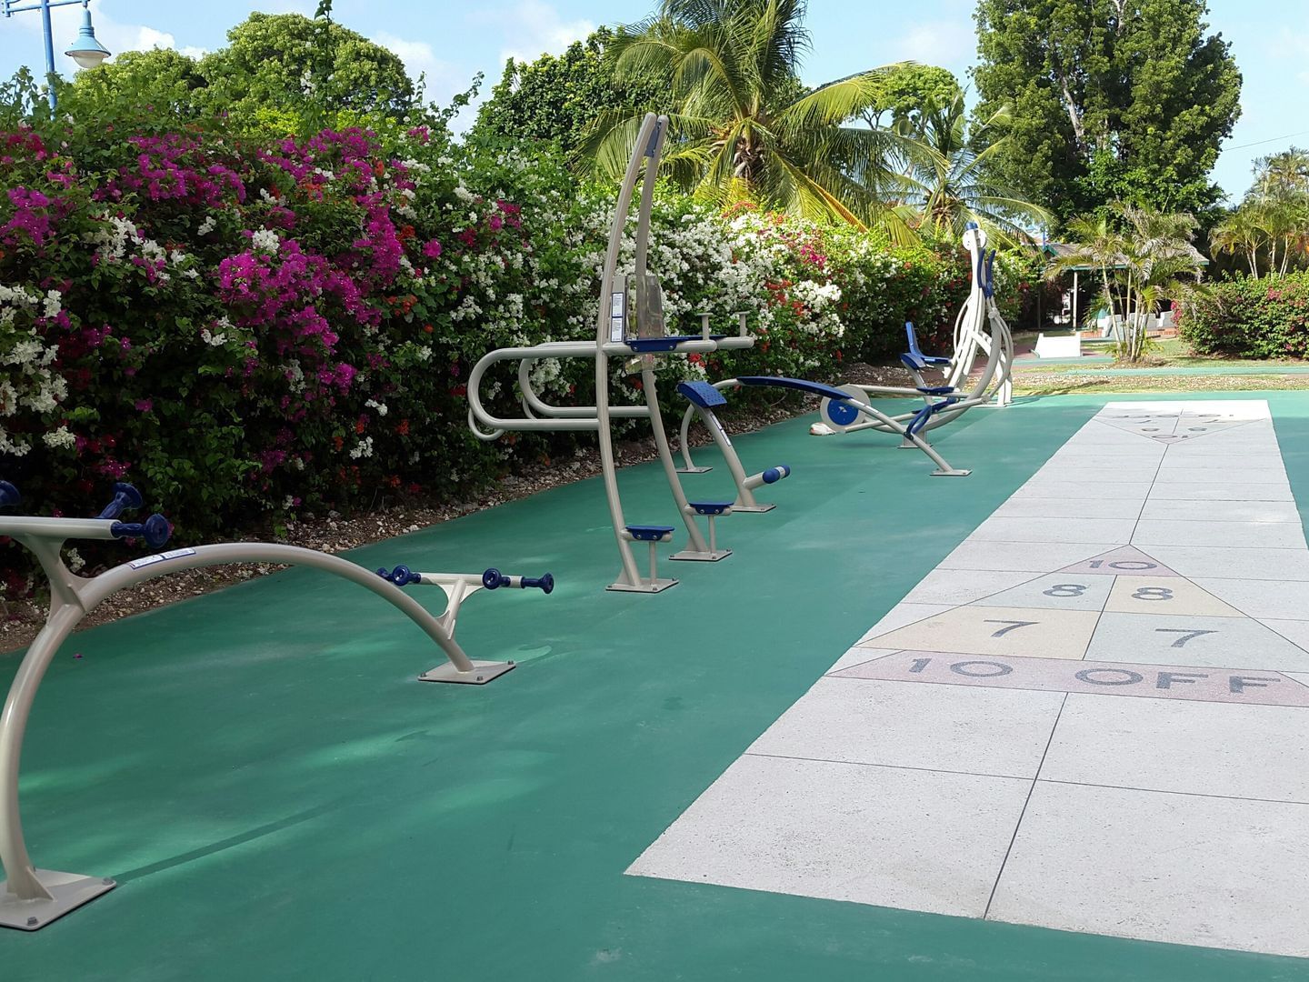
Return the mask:
<path id="1" fill-rule="evenodd" d="M 1155 685 L 1195 687 L 1206 681 L 1198 674 L 1179 672 Z M 1309 710 L 1073 693 L 1041 778 L 1309 804 Z"/>

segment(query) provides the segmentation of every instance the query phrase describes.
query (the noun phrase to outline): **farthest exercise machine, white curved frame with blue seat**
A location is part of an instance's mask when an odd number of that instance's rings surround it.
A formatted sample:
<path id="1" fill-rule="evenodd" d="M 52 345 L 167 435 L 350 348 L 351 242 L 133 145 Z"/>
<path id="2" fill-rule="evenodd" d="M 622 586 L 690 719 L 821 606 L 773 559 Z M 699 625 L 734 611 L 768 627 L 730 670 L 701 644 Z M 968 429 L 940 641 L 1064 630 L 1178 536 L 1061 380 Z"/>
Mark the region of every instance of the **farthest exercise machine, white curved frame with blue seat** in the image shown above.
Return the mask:
<path id="1" fill-rule="evenodd" d="M 888 385 L 843 385 L 840 391 L 855 398 L 867 399 L 877 395 L 910 395 L 922 398 L 927 406 L 933 406 L 932 398 L 946 395 L 946 403 L 936 403 L 927 418 L 916 423 L 915 432 L 945 426 L 971 409 L 979 406 L 1008 406 L 1013 401 L 1013 336 L 1000 309 L 995 304 L 995 250 L 987 254 L 987 234 L 977 223 L 969 223 L 963 232 L 963 247 L 969 253 L 971 285 L 969 297 L 954 318 L 954 354 L 949 357 L 928 356 L 922 352 L 914 325 L 906 323 L 905 333 L 908 351 L 901 356 L 901 363 L 914 376 L 914 388 Z M 979 355 L 987 361 L 978 377 L 969 385 Z M 939 371 L 940 384 L 929 384 L 925 372 Z M 915 412 L 893 416 L 897 423 L 918 419 Z M 819 424 L 816 433 L 851 433 L 859 429 L 880 429 L 897 432 L 897 428 L 874 418 L 859 418 L 850 411 L 850 405 L 842 399 L 825 398 L 818 407 Z M 902 446 L 911 445 L 902 443 Z"/>

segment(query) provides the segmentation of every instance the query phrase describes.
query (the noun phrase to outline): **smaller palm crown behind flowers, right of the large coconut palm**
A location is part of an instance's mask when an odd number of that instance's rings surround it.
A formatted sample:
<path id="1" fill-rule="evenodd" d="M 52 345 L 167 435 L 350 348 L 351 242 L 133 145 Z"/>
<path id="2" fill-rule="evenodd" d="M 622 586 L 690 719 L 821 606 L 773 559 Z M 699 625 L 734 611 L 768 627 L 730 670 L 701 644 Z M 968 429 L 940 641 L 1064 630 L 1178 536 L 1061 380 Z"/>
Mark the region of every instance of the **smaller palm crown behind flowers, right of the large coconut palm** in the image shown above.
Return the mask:
<path id="1" fill-rule="evenodd" d="M 1050 224 L 1050 212 L 987 177 L 991 158 L 1004 152 L 1008 137 L 1003 127 L 1008 122 L 1009 110 L 1001 107 L 970 134 L 963 93 L 923 109 L 919 135 L 905 160 L 912 187 L 907 203 L 919 211 L 920 228 L 957 240 L 973 221 L 992 241 L 1017 245 L 1030 240 L 1016 219 L 1029 225 Z M 984 149 L 978 152 L 977 145 Z"/>

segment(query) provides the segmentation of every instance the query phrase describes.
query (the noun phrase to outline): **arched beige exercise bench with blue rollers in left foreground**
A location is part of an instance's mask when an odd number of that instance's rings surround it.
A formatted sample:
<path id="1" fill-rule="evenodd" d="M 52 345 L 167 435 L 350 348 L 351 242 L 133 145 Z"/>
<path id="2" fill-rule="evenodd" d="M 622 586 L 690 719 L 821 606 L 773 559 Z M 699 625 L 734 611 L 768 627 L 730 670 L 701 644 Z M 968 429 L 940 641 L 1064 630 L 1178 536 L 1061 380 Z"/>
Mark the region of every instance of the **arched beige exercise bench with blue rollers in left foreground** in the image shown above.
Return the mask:
<path id="1" fill-rule="evenodd" d="M 0 507 L 21 501 L 18 490 L 0 481 Z M 554 577 L 539 580 L 504 576 L 497 570 L 475 575 L 411 573 L 398 567 L 378 576 L 339 556 L 298 546 L 268 542 L 223 542 L 131 559 L 96 576 L 79 576 L 64 563 L 62 551 L 67 539 L 144 539 L 152 549 L 168 543 L 171 532 L 162 515 L 151 515 L 141 522 L 119 521 L 124 511 L 141 505 L 141 495 L 131 484 L 115 484 L 114 499 L 94 518 L 45 518 L 38 516 L 0 516 L 0 536 L 26 546 L 41 563 L 50 580 L 50 613 L 18 666 L 4 711 L 0 712 L 0 865 L 5 880 L 0 882 L 0 926 L 35 931 L 51 920 L 80 907 L 115 886 L 114 880 L 80 876 L 51 869 L 37 869 L 27 855 L 18 813 L 18 767 L 27 718 L 41 680 L 55 653 L 73 628 L 103 600 L 136 584 L 183 570 L 196 570 L 223 563 L 278 563 L 309 566 L 330 572 L 372 591 L 398 608 L 427 632 L 448 657 L 448 664 L 423 676 L 432 682 L 482 685 L 513 668 L 512 661 L 473 661 L 454 640 L 454 621 L 459 604 L 478 589 L 497 587 L 539 587 L 548 593 Z M 398 576 L 403 571 L 403 576 Z M 418 577 L 416 580 L 412 577 Z M 446 610 L 433 617 L 404 593 L 398 580 L 431 583 L 445 589 Z"/>

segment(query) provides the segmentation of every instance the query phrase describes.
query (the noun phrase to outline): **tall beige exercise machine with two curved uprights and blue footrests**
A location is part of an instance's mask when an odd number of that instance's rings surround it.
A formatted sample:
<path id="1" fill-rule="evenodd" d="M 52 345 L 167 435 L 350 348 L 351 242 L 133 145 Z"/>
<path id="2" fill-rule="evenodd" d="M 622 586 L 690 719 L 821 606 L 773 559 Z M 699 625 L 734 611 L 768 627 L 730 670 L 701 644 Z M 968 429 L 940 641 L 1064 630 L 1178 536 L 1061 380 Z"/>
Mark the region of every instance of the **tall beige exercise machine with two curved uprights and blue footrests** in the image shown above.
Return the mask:
<path id="1" fill-rule="evenodd" d="M 547 342 L 517 348 L 497 348 L 487 354 L 474 365 L 469 376 L 469 427 L 482 440 L 495 440 L 509 431 L 558 432 L 589 431 L 600 437 L 601 474 L 605 483 L 605 496 L 609 500 L 609 517 L 614 526 L 614 539 L 618 545 L 619 573 L 609 585 L 611 591 L 631 591 L 639 593 L 658 593 L 674 585 L 677 580 L 661 579 L 657 570 L 657 545 L 672 542 L 673 525 L 628 524 L 619 498 L 618 477 L 614 464 L 614 441 L 610 429 L 614 419 L 648 419 L 654 432 L 654 444 L 660 462 L 668 479 L 669 491 L 677 504 L 682 522 L 686 525 L 687 547 L 675 553 L 673 559 L 716 562 L 730 555 L 730 550 L 719 549 L 713 530 L 713 520 L 729 513 L 730 501 L 689 501 L 673 462 L 668 433 L 660 411 L 654 368 L 658 359 L 670 355 L 711 354 L 749 348 L 754 338 L 746 331 L 746 314 L 738 313 L 737 334 L 712 334 L 709 321 L 712 314 L 702 313 L 700 333 L 673 335 L 668 333 L 664 319 L 662 291 L 658 278 L 649 271 L 649 232 L 651 211 L 654 203 L 654 179 L 658 161 L 668 136 L 668 117 L 647 114 L 636 137 L 635 151 L 627 164 L 618 192 L 618 206 L 609 233 L 609 249 L 605 253 L 605 266 L 601 274 L 600 310 L 596 319 L 594 340 Z M 618 271 L 618 255 L 623 245 L 623 230 L 637 181 L 641 182 L 640 204 L 636 221 L 635 271 L 623 275 Z M 585 357 L 596 361 L 596 405 L 594 406 L 551 406 L 546 403 L 531 385 L 531 368 L 541 359 Z M 611 406 L 609 398 L 610 359 L 622 359 L 632 373 L 640 372 L 644 406 Z M 500 361 L 518 363 L 518 391 L 522 403 L 522 416 L 500 418 L 487 410 L 482 399 L 482 381 L 491 365 Z M 706 539 L 696 524 L 703 516 L 709 525 L 709 538 Z M 649 575 L 643 575 L 632 553 L 634 542 L 649 545 Z"/>

